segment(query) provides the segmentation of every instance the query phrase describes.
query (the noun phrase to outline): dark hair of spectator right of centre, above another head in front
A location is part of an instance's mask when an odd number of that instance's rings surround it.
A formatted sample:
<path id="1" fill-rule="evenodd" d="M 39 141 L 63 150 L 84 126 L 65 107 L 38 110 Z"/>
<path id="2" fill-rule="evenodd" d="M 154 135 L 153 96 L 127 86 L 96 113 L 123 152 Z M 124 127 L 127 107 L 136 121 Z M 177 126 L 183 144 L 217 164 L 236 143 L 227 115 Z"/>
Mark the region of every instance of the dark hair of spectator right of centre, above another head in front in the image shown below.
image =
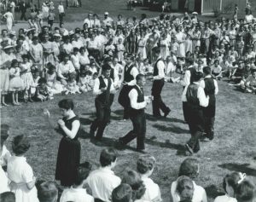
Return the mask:
<path id="1" fill-rule="evenodd" d="M 198 175 L 199 162 L 197 159 L 188 158 L 180 165 L 178 176 L 189 176 L 195 179 Z"/>

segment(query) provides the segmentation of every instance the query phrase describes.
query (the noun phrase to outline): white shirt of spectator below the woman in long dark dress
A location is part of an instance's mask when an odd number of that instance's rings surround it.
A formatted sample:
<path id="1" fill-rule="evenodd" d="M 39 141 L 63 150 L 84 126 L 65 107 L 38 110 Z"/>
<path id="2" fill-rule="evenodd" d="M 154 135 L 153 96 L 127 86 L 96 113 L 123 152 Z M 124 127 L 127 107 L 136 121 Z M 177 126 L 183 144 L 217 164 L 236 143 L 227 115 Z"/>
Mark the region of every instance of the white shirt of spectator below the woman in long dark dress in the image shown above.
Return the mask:
<path id="1" fill-rule="evenodd" d="M 94 202 L 91 195 L 86 193 L 85 188 L 67 188 L 61 194 L 60 202 L 73 201 L 73 202 Z"/>

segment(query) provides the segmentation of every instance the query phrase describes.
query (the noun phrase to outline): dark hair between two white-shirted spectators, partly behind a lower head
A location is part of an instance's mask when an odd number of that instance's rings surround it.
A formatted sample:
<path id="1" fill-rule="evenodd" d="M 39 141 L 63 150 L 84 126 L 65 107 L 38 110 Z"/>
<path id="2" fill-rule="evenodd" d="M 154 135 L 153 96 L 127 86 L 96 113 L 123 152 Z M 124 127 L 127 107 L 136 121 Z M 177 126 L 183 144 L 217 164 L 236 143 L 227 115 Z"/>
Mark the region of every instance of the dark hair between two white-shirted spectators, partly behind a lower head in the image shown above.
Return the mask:
<path id="1" fill-rule="evenodd" d="M 141 180 L 141 177 L 135 170 L 125 170 L 122 183 L 129 184 L 132 189 L 132 199 L 141 199 L 146 191 L 145 185 Z"/>

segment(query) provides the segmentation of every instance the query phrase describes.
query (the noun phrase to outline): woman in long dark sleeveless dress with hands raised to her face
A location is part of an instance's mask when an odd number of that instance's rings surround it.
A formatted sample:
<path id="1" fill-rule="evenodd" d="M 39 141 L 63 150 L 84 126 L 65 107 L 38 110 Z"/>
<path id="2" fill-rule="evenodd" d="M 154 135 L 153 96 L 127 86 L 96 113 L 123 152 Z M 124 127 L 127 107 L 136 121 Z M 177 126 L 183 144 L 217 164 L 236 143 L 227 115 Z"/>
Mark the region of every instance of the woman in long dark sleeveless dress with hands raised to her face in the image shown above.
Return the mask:
<path id="1" fill-rule="evenodd" d="M 73 112 L 73 100 L 64 99 L 58 105 L 63 116 L 58 120 L 63 137 L 58 151 L 55 179 L 60 180 L 62 186 L 71 186 L 75 182 L 76 170 L 80 163 L 81 145 L 78 140 L 80 121 Z"/>

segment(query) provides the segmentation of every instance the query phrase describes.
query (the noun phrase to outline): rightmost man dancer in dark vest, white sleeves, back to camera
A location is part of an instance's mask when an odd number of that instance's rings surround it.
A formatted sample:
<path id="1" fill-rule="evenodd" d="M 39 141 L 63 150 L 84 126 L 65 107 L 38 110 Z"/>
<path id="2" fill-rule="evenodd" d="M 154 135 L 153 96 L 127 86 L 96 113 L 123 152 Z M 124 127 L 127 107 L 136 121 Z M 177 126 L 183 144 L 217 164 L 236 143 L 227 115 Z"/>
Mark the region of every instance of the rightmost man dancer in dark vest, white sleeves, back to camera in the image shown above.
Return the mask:
<path id="1" fill-rule="evenodd" d="M 215 95 L 218 94 L 218 84 L 215 79 L 212 78 L 211 68 L 205 66 L 203 68 L 204 80 L 201 80 L 201 87 L 205 90 L 205 94 L 209 95 L 209 105 L 203 108 L 203 115 L 205 118 L 205 132 L 209 140 L 212 141 L 214 137 L 214 120 L 215 120 L 215 110 L 216 110 L 216 98 Z"/>

